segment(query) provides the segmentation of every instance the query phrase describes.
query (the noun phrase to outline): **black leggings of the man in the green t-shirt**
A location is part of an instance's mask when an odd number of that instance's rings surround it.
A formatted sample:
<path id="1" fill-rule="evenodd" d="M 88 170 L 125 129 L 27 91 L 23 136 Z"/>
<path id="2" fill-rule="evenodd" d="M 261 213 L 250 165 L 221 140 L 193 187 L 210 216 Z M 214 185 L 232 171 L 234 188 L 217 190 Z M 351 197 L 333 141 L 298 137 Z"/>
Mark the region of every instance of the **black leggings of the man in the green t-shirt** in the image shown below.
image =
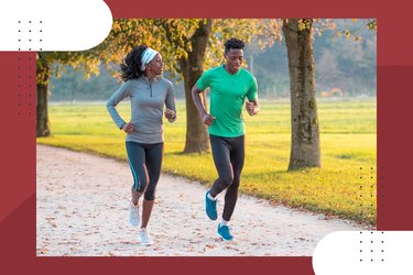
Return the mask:
<path id="1" fill-rule="evenodd" d="M 237 138 L 222 138 L 209 135 L 215 167 L 218 170 L 218 179 L 210 188 L 213 197 L 227 189 L 222 218 L 231 219 L 238 198 L 238 187 L 244 161 L 244 135 Z"/>

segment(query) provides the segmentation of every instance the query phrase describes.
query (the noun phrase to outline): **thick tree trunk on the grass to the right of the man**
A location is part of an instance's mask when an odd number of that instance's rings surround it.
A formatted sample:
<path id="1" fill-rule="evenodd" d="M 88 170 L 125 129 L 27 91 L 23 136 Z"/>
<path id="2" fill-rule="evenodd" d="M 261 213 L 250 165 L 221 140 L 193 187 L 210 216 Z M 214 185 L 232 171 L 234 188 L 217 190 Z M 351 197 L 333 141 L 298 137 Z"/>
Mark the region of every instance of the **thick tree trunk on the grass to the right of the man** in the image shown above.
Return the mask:
<path id="1" fill-rule="evenodd" d="M 291 89 L 291 155 L 289 170 L 320 167 L 319 129 L 315 92 L 312 21 L 298 30 L 298 20 L 284 20 Z"/>

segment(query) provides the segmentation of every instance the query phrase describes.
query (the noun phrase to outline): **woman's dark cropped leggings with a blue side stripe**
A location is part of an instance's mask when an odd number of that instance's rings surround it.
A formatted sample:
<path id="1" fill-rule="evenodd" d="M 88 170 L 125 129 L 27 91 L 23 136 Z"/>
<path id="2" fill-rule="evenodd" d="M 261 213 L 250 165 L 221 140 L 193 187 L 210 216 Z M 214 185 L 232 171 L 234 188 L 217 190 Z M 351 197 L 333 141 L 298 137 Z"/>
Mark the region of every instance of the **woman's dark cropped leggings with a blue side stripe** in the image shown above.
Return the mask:
<path id="1" fill-rule="evenodd" d="M 145 200 L 154 200 L 161 175 L 163 143 L 142 144 L 128 141 L 127 152 L 133 175 L 133 189 L 144 191 Z"/>

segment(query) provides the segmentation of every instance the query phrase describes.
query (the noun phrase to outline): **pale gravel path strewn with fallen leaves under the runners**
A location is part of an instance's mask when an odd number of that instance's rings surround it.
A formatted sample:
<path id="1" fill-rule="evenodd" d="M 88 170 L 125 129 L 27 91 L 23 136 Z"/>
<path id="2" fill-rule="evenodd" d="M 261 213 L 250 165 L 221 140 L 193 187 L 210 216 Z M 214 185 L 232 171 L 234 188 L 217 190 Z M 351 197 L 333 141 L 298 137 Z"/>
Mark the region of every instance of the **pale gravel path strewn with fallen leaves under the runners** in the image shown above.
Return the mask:
<path id="1" fill-rule="evenodd" d="M 225 242 L 204 212 L 206 186 L 162 174 L 149 224 L 154 244 L 142 246 L 127 220 L 127 163 L 37 145 L 36 174 L 39 256 L 311 256 L 330 232 L 366 230 L 240 196 L 230 222 L 236 240 Z M 220 195 L 218 211 L 222 202 Z"/>

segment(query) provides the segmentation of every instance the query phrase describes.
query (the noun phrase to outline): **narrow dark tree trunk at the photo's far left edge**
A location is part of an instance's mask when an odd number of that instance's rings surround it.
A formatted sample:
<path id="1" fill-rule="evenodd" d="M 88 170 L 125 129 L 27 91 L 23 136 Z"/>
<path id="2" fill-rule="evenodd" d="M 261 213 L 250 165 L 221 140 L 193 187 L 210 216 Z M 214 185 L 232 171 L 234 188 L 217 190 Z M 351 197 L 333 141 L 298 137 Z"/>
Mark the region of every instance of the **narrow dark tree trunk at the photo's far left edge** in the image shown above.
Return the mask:
<path id="1" fill-rule="evenodd" d="M 51 75 L 51 68 L 44 56 L 39 53 L 37 57 L 37 124 L 36 124 L 36 136 L 48 136 L 51 135 L 50 122 L 48 122 L 48 78 Z"/>

